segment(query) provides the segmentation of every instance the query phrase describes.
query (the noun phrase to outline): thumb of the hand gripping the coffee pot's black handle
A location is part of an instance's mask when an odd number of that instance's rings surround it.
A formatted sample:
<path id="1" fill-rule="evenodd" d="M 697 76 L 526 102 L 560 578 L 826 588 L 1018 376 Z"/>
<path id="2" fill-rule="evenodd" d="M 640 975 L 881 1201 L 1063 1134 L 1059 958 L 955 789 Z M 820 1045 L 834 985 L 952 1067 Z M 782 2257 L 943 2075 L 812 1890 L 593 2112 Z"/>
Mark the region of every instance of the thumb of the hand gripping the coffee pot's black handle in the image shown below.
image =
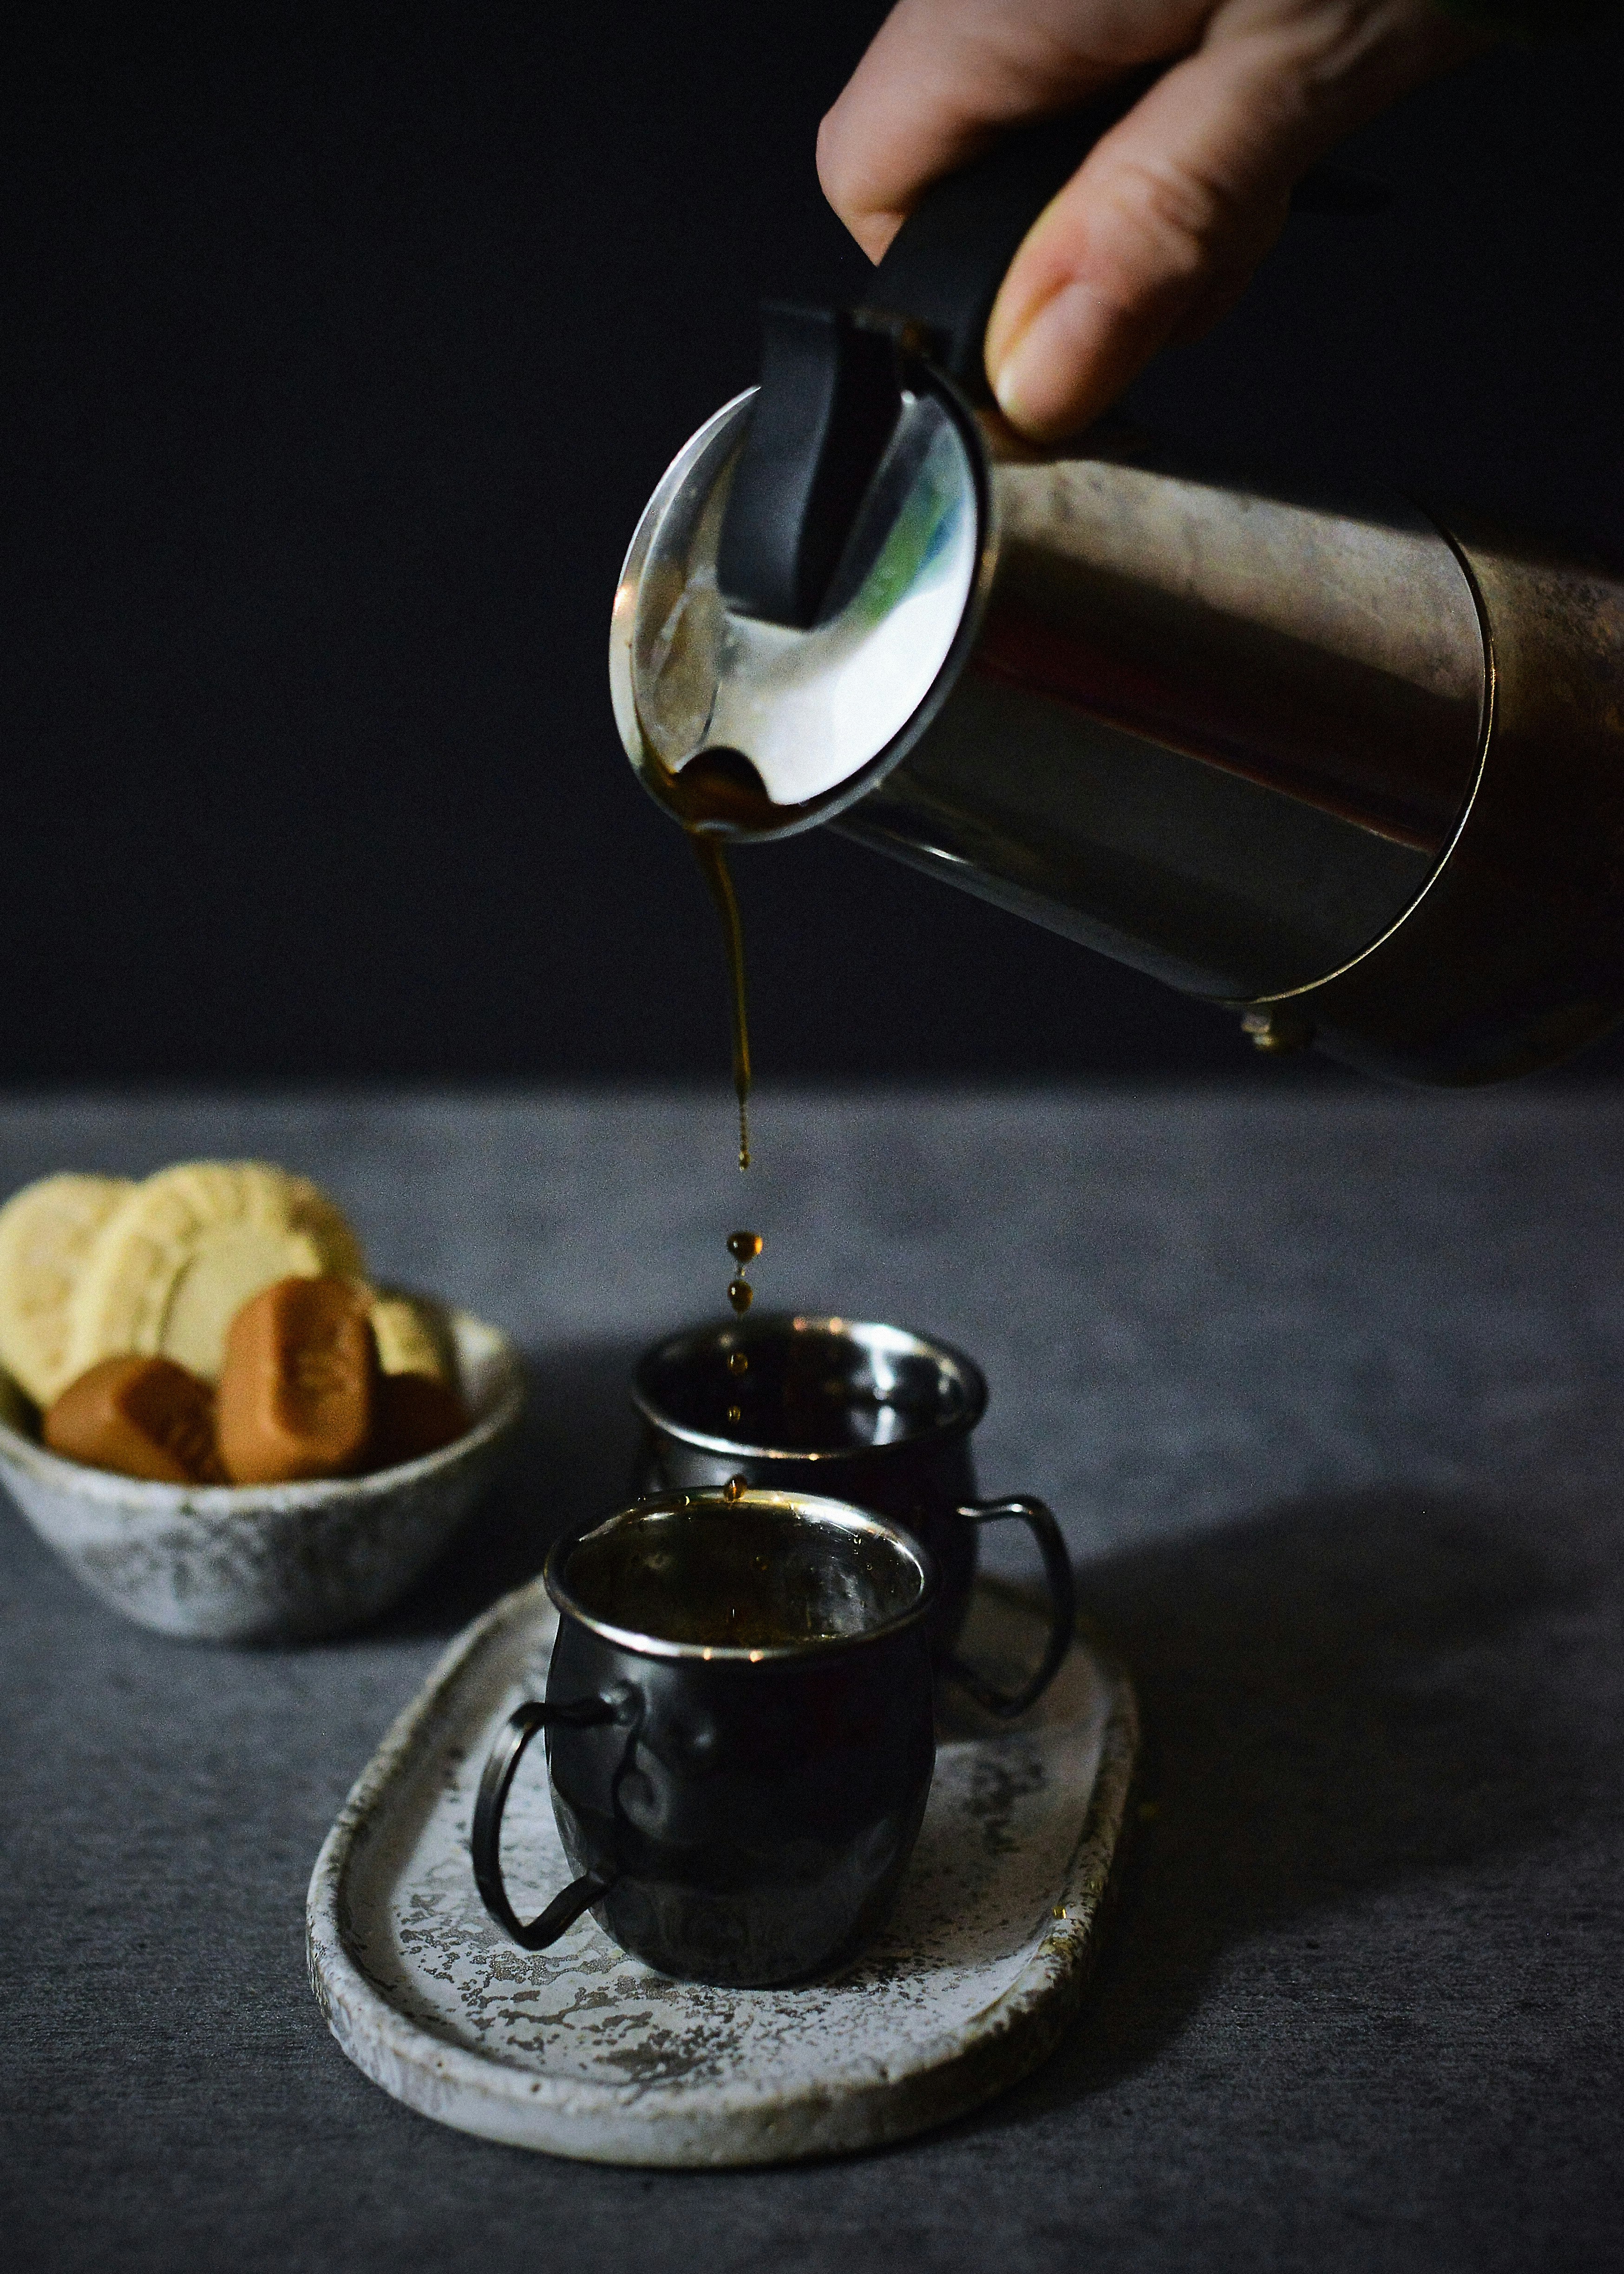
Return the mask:
<path id="1" fill-rule="evenodd" d="M 1406 0 L 1253 16 L 1228 36 L 1221 11 L 1014 255 L 987 325 L 1005 418 L 1035 439 L 1087 425 L 1158 348 L 1233 305 L 1324 150 L 1474 45 Z"/>

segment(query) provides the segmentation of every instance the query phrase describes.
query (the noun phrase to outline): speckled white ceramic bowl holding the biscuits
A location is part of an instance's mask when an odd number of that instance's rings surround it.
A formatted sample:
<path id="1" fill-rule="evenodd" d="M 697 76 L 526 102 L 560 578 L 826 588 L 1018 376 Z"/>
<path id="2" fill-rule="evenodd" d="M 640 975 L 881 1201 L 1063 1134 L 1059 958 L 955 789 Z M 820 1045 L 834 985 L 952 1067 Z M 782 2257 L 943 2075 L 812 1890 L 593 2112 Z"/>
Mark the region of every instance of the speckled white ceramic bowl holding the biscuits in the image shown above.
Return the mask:
<path id="1" fill-rule="evenodd" d="M 0 1373 L 0 1480 L 86 1587 L 161 1635 L 309 1642 L 364 1626 L 441 1553 L 523 1410 L 507 1337 L 462 1310 L 444 1321 L 473 1428 L 398 1469 L 318 1485 L 146 1485 L 23 1435 L 14 1424 L 27 1408 Z"/>

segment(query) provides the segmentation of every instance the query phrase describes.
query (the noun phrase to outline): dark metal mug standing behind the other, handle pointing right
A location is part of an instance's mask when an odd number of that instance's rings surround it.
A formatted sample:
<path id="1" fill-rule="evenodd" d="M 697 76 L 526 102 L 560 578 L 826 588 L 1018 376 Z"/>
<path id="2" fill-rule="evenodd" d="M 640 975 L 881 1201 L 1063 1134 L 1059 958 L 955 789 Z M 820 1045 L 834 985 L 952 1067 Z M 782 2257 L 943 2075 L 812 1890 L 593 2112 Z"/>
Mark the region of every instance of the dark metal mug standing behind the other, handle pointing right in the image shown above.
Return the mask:
<path id="1" fill-rule="evenodd" d="M 746 1364 L 735 1371 L 739 1358 Z M 987 1383 L 962 1351 L 867 1319 L 746 1314 L 644 1351 L 632 1403 L 644 1419 L 635 1492 L 714 1489 L 741 1476 L 778 1492 L 835 1492 L 892 1517 L 926 1544 L 942 1576 L 930 1640 L 944 1671 L 1001 1719 L 1049 1687 L 1076 1628 L 1071 1558 L 1044 1501 L 976 1496 L 969 1437 L 987 1410 Z M 1049 1592 L 1042 1662 L 1012 1692 L 955 1655 L 976 1530 L 1003 1521 L 1030 1528 Z"/>

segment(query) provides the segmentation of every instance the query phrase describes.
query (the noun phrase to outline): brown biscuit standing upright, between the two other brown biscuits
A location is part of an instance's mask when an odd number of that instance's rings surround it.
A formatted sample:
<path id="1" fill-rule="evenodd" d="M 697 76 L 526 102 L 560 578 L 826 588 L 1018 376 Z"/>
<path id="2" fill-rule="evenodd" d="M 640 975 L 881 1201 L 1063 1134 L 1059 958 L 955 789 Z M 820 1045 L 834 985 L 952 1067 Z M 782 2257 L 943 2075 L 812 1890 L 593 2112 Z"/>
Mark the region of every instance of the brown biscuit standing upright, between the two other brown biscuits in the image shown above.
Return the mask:
<path id="1" fill-rule="evenodd" d="M 237 1485 L 353 1476 L 373 1433 L 371 1296 L 346 1278 L 284 1278 L 237 1312 L 216 1401 Z"/>

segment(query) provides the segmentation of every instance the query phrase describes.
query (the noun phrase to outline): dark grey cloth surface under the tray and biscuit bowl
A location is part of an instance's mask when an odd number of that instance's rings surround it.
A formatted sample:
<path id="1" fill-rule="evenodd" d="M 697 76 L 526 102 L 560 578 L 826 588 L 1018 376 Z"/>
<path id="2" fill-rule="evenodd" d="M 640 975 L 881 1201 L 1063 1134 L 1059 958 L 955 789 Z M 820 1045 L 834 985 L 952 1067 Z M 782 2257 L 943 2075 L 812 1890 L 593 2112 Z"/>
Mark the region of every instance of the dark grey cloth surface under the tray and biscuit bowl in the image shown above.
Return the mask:
<path id="1" fill-rule="evenodd" d="M 1588 2267 L 1624 2258 L 1624 1103 L 1369 1089 L 30 1101 L 0 1189 L 262 1155 L 516 1330 L 519 1483 L 378 1633 L 239 1653 L 0 1512 L 0 2251 L 27 2267 Z M 746 1194 L 741 1198 L 741 1192 Z M 628 1353 L 762 1298 L 987 1367 L 1062 1512 L 1149 1806 L 1083 2017 L 883 2156 L 637 2174 L 348 2067 L 305 1881 L 450 1635 L 610 1505 Z"/>

